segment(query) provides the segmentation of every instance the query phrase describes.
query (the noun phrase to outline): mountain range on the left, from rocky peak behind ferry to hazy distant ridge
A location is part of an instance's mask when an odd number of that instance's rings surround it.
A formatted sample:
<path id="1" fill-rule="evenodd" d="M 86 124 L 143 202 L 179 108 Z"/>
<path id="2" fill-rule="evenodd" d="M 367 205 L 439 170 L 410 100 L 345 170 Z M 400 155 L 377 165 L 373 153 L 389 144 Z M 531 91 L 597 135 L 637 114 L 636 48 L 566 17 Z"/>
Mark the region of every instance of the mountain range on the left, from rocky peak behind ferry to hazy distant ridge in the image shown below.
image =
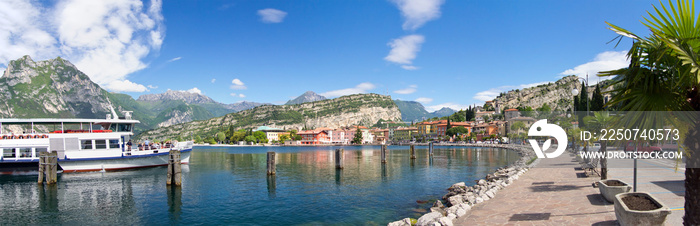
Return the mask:
<path id="1" fill-rule="evenodd" d="M 186 91 L 169 90 L 134 100 L 110 93 L 69 61 L 55 58 L 35 62 L 30 56 L 10 61 L 0 77 L 0 117 L 5 118 L 103 118 L 110 105 L 118 111 L 133 111 L 141 121 L 135 132 L 192 120 L 205 120 L 250 109 L 262 103 L 218 103 Z"/>

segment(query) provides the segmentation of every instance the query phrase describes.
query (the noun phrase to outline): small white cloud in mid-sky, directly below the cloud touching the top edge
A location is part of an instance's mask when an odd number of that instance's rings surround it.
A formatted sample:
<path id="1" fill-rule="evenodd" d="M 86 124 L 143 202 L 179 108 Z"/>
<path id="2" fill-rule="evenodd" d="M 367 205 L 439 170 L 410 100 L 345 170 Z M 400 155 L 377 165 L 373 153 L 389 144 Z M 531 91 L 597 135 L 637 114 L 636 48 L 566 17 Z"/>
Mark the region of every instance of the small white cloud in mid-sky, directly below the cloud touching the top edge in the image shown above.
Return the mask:
<path id="1" fill-rule="evenodd" d="M 389 55 L 384 57 L 384 60 L 408 66 L 404 67 L 407 70 L 416 69 L 410 64 L 416 59 L 416 53 L 420 51 L 424 41 L 425 38 L 422 35 L 407 35 L 394 39 L 387 44 L 391 47 L 391 51 L 389 51 Z"/>

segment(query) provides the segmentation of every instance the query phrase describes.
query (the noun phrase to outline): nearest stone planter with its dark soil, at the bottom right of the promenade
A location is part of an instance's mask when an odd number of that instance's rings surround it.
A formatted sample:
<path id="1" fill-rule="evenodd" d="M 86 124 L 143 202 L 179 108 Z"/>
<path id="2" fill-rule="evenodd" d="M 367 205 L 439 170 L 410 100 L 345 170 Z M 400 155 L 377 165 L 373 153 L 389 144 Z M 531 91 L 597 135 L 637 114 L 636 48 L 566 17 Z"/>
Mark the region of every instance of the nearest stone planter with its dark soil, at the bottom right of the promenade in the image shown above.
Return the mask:
<path id="1" fill-rule="evenodd" d="M 663 225 L 671 209 L 647 192 L 615 196 L 615 217 L 622 225 Z"/>

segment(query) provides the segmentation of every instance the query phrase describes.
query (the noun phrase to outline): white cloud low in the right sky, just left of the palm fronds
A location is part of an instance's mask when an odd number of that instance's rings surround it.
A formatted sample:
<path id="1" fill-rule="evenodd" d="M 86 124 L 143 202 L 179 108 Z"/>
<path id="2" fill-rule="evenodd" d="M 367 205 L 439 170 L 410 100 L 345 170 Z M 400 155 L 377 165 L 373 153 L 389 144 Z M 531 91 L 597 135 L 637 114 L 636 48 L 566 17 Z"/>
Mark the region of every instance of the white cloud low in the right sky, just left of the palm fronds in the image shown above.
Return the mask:
<path id="1" fill-rule="evenodd" d="M 598 72 L 620 69 L 629 66 L 627 51 L 606 51 L 599 53 L 593 61 L 567 69 L 559 75 L 577 75 L 578 77 L 596 76 Z M 593 82 L 592 82 L 593 83 Z"/>

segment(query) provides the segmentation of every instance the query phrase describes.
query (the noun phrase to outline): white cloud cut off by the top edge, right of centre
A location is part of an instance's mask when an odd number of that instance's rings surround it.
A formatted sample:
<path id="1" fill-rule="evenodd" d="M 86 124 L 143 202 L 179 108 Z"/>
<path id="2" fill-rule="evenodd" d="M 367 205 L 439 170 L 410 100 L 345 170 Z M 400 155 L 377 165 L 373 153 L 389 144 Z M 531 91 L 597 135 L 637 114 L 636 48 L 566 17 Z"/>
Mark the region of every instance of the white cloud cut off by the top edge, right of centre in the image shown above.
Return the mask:
<path id="1" fill-rule="evenodd" d="M 443 0 L 392 0 L 401 10 L 404 30 L 416 30 L 430 20 L 440 17 Z"/>

